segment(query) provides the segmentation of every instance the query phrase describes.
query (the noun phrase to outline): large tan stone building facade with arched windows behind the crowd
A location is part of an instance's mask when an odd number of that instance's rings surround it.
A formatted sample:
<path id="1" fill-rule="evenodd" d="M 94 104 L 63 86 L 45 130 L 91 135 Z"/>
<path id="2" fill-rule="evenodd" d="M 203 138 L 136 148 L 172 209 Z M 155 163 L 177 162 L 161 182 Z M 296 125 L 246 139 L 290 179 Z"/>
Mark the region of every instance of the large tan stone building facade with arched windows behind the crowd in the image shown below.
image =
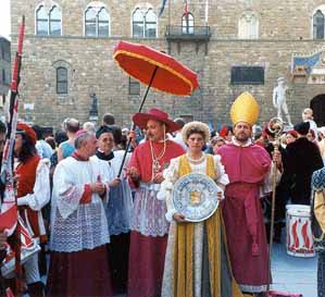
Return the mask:
<path id="1" fill-rule="evenodd" d="M 229 123 L 229 108 L 243 90 L 261 106 L 260 123 L 276 115 L 278 77 L 288 85 L 292 122 L 314 108 L 325 125 L 325 2 L 322 0 L 29 0 L 11 2 L 12 48 L 26 16 L 21 97 L 35 123 L 59 126 L 67 116 L 115 114 L 128 125 L 145 86 L 138 87 L 112 59 L 118 40 L 164 50 L 198 73 L 188 97 L 150 91 L 146 108 L 172 116 Z M 24 104 L 21 114 L 24 115 Z M 93 114 L 92 114 L 93 115 Z"/>

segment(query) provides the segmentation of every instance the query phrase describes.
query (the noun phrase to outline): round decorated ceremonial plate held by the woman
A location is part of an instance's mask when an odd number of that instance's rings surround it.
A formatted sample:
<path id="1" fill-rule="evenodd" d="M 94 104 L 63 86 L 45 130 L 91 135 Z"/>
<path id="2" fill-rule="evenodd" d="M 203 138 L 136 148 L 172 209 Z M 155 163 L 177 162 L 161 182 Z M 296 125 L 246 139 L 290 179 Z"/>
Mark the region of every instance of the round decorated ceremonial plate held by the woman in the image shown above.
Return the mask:
<path id="1" fill-rule="evenodd" d="M 217 193 L 222 189 L 205 174 L 190 173 L 174 185 L 172 201 L 177 212 L 189 222 L 209 219 L 217 209 Z"/>

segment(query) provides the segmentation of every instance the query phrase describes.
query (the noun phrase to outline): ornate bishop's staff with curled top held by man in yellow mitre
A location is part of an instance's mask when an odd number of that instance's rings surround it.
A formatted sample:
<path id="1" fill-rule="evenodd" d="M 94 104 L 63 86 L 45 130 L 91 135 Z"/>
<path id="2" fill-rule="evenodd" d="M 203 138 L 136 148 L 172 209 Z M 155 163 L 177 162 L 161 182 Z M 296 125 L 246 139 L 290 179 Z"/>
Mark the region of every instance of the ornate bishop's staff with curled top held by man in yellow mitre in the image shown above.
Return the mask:
<path id="1" fill-rule="evenodd" d="M 267 124 L 270 132 L 274 134 L 274 152 L 278 151 L 279 147 L 279 136 L 284 129 L 284 123 L 278 117 L 273 117 Z M 276 190 L 276 178 L 277 178 L 277 168 L 275 161 L 273 162 L 273 172 L 272 172 L 272 208 L 271 208 L 271 227 L 270 227 L 270 240 L 268 240 L 268 282 L 266 286 L 266 296 L 270 295 L 270 285 L 271 285 L 271 257 L 272 257 L 272 247 L 273 247 L 273 235 L 274 235 L 274 215 L 275 215 L 275 190 Z"/>

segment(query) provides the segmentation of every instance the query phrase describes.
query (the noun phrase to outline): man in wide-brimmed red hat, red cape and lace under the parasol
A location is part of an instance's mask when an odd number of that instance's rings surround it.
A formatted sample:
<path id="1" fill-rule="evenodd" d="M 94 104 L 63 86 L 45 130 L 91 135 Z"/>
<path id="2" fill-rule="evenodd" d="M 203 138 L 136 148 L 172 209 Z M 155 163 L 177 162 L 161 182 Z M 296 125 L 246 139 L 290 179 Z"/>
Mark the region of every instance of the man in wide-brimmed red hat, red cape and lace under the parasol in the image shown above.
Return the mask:
<path id="1" fill-rule="evenodd" d="M 166 138 L 166 133 L 179 129 L 178 124 L 158 109 L 136 113 L 134 123 L 147 129 L 148 140 L 139 145 L 128 163 L 128 175 L 136 195 L 132 219 L 128 287 L 129 297 L 158 297 L 161 294 L 168 223 L 166 206 L 157 199 L 162 171 L 172 158 L 185 151 Z"/>

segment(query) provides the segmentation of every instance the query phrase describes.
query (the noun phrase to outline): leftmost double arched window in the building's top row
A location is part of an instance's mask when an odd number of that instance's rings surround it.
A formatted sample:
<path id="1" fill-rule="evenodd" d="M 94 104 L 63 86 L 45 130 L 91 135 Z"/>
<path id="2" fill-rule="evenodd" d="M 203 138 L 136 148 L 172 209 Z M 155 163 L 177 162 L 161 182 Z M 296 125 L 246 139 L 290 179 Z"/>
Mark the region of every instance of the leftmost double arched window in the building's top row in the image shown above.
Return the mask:
<path id="1" fill-rule="evenodd" d="M 57 5 L 46 8 L 40 4 L 36 10 L 36 34 L 37 35 L 61 35 L 62 12 Z"/>

